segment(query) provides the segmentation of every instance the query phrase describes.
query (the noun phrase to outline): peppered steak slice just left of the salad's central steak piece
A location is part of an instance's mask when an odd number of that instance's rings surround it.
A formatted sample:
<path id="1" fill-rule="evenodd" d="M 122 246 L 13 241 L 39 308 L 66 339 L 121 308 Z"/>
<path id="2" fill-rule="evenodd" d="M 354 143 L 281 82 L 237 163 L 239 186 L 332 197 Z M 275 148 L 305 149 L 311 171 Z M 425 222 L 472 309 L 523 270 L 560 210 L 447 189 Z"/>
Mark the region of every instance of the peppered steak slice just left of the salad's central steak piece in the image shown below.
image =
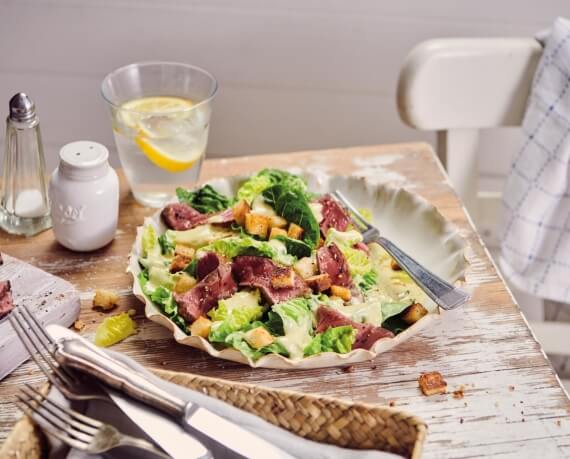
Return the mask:
<path id="1" fill-rule="evenodd" d="M 228 298 L 237 291 L 229 263 L 221 262 L 213 271 L 186 293 L 175 293 L 180 315 L 189 322 L 205 315 L 218 304 L 218 300 Z"/>

